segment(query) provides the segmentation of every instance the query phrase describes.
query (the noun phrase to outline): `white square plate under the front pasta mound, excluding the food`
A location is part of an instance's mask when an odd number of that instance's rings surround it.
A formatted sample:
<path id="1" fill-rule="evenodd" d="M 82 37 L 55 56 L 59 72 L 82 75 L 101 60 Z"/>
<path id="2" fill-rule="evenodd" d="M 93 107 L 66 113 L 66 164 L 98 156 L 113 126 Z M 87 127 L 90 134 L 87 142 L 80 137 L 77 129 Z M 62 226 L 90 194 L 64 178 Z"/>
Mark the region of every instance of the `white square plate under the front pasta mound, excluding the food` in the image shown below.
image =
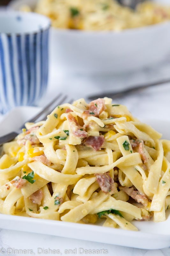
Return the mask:
<path id="1" fill-rule="evenodd" d="M 0 123 L 0 136 L 17 129 L 19 125 L 34 116 L 40 108 L 19 107 L 7 114 Z M 170 139 L 170 120 L 145 120 L 157 131 L 163 133 L 164 139 Z M 13 130 L 13 129 L 12 129 Z M 170 246 L 170 216 L 166 212 L 166 221 L 134 221 L 139 231 L 126 231 L 118 228 L 105 228 L 55 220 L 41 220 L 20 216 L 0 214 L 0 228 L 27 231 L 87 241 L 117 244 L 141 249 L 160 249 Z"/>

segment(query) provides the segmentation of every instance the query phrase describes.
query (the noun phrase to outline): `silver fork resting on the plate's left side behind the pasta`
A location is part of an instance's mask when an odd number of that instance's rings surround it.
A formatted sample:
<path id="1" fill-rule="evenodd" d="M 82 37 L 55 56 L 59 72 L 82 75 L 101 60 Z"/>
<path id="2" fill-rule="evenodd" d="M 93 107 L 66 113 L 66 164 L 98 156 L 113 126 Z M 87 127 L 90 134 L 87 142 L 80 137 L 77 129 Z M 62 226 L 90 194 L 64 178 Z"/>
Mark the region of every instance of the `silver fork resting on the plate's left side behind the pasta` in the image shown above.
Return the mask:
<path id="1" fill-rule="evenodd" d="M 47 115 L 51 113 L 51 111 L 58 105 L 61 105 L 63 102 L 68 101 L 69 103 L 72 103 L 72 99 L 68 99 L 67 95 L 63 95 L 62 93 L 59 93 L 51 102 L 48 103 L 47 106 L 45 106 L 36 116 L 33 116 L 30 120 L 27 122 L 34 123 L 40 120 L 45 120 Z M 25 128 L 25 124 L 22 124 L 21 127 L 17 131 L 10 132 L 4 136 L 0 137 L 0 146 L 2 144 L 9 142 L 11 140 L 14 140 L 15 137 L 21 133 L 21 130 Z"/>

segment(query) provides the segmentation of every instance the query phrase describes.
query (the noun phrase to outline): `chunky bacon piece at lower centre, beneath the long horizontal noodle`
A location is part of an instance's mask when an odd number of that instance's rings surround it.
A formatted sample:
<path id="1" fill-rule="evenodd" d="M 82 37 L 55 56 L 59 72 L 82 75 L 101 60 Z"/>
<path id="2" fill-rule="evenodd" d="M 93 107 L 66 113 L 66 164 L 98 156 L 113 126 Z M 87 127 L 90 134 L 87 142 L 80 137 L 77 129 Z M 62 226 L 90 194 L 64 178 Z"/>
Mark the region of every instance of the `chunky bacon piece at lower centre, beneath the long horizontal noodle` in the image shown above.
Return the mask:
<path id="1" fill-rule="evenodd" d="M 114 180 L 110 177 L 110 175 L 105 173 L 97 173 L 96 175 L 96 181 L 99 184 L 101 190 L 107 194 L 108 192 L 112 191 Z"/>

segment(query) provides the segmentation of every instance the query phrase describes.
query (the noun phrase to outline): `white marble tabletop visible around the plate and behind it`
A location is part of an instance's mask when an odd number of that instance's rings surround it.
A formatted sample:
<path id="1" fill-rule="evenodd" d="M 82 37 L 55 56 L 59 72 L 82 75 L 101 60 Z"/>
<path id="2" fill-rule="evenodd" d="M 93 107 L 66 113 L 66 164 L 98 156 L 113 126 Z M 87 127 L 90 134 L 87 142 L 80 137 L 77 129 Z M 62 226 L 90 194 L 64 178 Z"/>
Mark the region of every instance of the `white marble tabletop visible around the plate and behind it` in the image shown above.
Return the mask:
<path id="1" fill-rule="evenodd" d="M 71 75 L 57 74 L 52 70 L 49 77 L 49 86 L 46 96 L 40 101 L 39 106 L 44 105 L 44 101 L 52 99 L 57 92 L 69 94 L 73 99 L 85 98 L 88 95 L 117 91 L 133 85 L 157 81 L 170 78 L 170 64 L 161 63 L 152 68 L 145 68 L 141 71 L 128 74 L 115 75 Z M 158 85 L 124 95 L 122 98 L 115 98 L 115 103 L 126 105 L 134 116 L 140 120 L 145 119 L 170 119 L 170 83 Z M 60 250 L 58 255 L 91 255 L 89 253 L 78 252 L 79 248 L 84 250 L 102 250 L 98 255 L 126 255 L 126 256 L 169 256 L 170 248 L 159 250 L 143 250 L 117 245 L 82 241 L 59 236 L 34 234 L 13 230 L 0 230 L 0 255 L 57 255 L 56 249 Z M 114 238 L 113 238 L 114 239 Z M 20 250 L 20 251 L 19 251 Z M 25 250 L 25 251 L 24 251 Z M 97 255 L 97 254 L 95 254 Z"/>

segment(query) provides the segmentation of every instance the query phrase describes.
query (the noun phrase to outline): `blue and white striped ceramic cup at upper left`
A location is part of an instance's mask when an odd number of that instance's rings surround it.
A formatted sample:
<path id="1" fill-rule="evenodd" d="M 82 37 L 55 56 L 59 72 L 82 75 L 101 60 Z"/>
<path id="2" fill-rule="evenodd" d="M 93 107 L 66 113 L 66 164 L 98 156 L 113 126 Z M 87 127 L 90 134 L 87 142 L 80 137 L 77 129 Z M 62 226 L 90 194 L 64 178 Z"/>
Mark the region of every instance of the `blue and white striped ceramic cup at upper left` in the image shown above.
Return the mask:
<path id="1" fill-rule="evenodd" d="M 36 105 L 48 84 L 50 20 L 31 12 L 0 12 L 0 113 Z"/>

